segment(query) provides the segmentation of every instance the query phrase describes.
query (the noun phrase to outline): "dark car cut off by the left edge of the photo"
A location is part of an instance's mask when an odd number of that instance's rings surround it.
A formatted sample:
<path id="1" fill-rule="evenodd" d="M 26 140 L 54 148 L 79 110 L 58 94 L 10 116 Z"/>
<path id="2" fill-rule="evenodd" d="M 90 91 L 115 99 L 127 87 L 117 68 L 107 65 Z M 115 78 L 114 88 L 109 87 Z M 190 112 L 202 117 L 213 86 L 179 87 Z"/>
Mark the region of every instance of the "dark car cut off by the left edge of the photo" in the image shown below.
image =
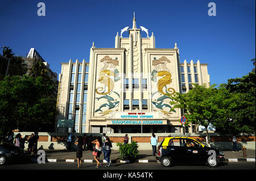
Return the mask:
<path id="1" fill-rule="evenodd" d="M 10 144 L 0 144 L 0 166 L 14 162 L 22 157 L 22 151 L 18 146 Z"/>

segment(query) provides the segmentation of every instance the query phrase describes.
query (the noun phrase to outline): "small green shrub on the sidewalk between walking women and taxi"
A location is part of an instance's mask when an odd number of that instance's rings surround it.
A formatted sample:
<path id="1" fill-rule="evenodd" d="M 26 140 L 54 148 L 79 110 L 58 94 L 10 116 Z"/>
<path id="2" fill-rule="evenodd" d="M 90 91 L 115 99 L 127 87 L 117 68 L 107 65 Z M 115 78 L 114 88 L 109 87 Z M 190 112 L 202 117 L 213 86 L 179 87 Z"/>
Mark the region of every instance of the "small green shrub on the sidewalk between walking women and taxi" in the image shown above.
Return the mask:
<path id="1" fill-rule="evenodd" d="M 119 147 L 119 153 L 121 154 L 118 157 L 119 159 L 134 162 L 135 159 L 138 158 L 139 146 L 137 145 L 137 142 L 132 141 L 130 144 L 123 144 L 121 142 L 118 142 L 117 146 Z"/>

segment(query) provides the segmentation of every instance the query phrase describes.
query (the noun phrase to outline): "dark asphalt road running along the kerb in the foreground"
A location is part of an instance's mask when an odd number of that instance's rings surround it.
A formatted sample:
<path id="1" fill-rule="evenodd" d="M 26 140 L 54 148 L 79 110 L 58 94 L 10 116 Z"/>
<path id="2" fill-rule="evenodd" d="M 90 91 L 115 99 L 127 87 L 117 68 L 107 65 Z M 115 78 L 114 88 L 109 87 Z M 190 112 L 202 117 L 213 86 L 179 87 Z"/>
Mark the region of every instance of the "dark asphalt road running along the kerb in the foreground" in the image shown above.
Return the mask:
<path id="1" fill-rule="evenodd" d="M 0 166 L 2 170 L 255 170 L 255 162 L 230 162 L 226 165 L 210 168 L 204 165 L 176 165 L 172 167 L 162 167 L 160 163 L 113 163 L 106 168 L 102 163 L 100 168 L 96 168 L 96 163 L 83 163 L 81 168 L 77 168 L 77 163 L 18 163 Z"/>

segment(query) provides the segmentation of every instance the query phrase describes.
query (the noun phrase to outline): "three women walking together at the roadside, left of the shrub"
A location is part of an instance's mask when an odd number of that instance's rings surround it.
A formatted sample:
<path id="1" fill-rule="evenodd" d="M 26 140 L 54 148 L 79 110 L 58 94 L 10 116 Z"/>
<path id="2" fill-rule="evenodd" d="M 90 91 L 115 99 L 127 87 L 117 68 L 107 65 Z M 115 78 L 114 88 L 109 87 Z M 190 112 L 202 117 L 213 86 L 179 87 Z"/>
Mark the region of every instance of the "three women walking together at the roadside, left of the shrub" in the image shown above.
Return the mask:
<path id="1" fill-rule="evenodd" d="M 76 158 L 77 158 L 78 168 L 82 167 L 82 163 L 81 163 L 82 151 L 86 146 L 86 141 L 84 142 L 84 140 L 86 140 L 86 138 L 80 136 L 80 137 L 77 137 L 77 140 L 75 141 L 75 145 L 77 145 Z M 98 136 L 95 140 L 90 142 L 90 144 L 95 144 L 92 154 L 95 161 L 97 162 L 96 168 L 101 166 L 100 155 L 102 154 L 102 152 L 104 153 L 104 159 L 106 160 L 106 162 L 108 162 L 105 165 L 105 167 L 109 167 L 111 164 L 110 154 L 111 154 L 111 148 L 112 148 L 112 143 L 110 141 L 110 138 L 106 136 L 106 134 L 104 133 L 102 137 Z"/>

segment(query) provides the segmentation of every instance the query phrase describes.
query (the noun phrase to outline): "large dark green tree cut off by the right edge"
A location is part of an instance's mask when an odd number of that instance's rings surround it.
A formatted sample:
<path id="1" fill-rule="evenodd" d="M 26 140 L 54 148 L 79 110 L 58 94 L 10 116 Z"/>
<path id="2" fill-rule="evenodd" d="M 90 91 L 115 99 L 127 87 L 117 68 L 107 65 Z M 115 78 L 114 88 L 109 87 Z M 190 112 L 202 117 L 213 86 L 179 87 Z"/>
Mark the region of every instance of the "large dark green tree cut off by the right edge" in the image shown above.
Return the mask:
<path id="1" fill-rule="evenodd" d="M 255 133 L 255 72 L 229 79 L 221 85 L 233 95 L 229 119 L 219 124 L 220 131 Z"/>

